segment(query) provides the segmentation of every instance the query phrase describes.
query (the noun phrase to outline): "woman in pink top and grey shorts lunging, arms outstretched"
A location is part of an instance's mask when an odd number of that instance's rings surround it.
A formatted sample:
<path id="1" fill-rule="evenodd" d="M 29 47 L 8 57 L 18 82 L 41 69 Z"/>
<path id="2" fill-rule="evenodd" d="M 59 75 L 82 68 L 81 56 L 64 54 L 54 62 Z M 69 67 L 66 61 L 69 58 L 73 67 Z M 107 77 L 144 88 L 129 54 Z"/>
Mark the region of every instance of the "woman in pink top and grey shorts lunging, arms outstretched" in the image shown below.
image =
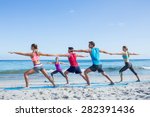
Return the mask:
<path id="1" fill-rule="evenodd" d="M 29 87 L 29 77 L 28 76 L 31 74 L 34 74 L 34 73 L 39 73 L 40 71 L 52 83 L 52 85 L 55 86 L 53 79 L 47 74 L 47 71 L 44 69 L 43 65 L 41 64 L 41 62 L 39 60 L 40 56 L 54 56 L 54 55 L 38 52 L 38 46 L 36 44 L 31 45 L 31 50 L 32 50 L 31 53 L 9 52 L 10 54 L 29 56 L 32 59 L 34 68 L 30 69 L 24 73 L 26 87 Z"/>

